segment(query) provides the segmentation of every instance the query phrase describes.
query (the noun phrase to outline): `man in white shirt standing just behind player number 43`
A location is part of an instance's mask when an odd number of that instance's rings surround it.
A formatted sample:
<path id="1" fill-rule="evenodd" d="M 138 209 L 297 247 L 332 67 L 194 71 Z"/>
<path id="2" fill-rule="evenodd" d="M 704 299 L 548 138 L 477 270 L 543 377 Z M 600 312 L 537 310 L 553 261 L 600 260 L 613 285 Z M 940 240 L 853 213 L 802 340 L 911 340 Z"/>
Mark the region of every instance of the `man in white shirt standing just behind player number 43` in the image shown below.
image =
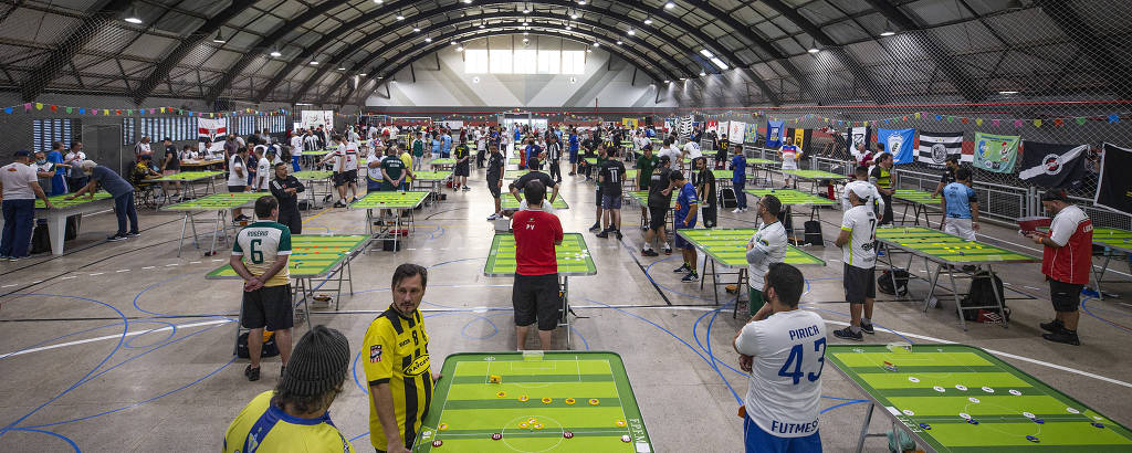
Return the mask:
<path id="1" fill-rule="evenodd" d="M 758 220 L 762 225 L 747 241 L 747 313 L 755 316 L 766 299 L 763 294 L 763 276 L 774 263 L 786 262 L 786 228 L 779 221 L 782 202 L 773 195 L 758 199 Z"/>

